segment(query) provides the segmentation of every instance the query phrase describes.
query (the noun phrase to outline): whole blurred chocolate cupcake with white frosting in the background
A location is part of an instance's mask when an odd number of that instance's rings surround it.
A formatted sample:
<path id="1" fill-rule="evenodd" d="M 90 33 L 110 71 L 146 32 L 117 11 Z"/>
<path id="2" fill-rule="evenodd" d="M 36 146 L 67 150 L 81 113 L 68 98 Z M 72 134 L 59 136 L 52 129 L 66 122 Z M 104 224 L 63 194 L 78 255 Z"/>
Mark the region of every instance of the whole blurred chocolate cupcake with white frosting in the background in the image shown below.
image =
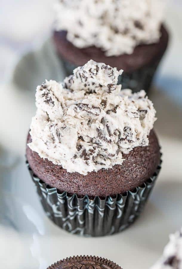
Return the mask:
<path id="1" fill-rule="evenodd" d="M 57 1 L 53 39 L 67 74 L 88 60 L 124 70 L 123 88 L 150 88 L 167 48 L 158 0 Z"/>

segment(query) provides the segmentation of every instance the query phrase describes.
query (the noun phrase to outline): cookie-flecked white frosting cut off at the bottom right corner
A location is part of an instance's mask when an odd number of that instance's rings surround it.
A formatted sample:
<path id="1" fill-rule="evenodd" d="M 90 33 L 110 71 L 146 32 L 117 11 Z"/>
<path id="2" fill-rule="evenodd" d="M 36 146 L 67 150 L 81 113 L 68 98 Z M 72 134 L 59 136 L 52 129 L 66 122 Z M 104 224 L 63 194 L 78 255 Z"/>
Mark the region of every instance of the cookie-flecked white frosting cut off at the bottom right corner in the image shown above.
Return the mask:
<path id="1" fill-rule="evenodd" d="M 151 269 L 182 269 L 182 229 L 169 236 L 161 259 Z"/>

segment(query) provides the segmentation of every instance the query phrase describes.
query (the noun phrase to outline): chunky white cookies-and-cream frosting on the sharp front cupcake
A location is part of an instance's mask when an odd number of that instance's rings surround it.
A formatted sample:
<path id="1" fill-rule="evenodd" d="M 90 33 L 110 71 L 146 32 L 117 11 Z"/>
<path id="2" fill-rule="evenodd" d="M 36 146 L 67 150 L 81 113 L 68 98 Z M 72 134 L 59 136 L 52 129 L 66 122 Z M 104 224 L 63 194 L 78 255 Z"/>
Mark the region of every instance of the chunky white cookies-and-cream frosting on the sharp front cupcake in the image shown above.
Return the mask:
<path id="1" fill-rule="evenodd" d="M 121 73 L 90 60 L 63 83 L 38 86 L 30 149 L 67 172 L 87 175 L 121 165 L 123 153 L 147 146 L 155 109 L 145 91 L 121 90 Z"/>

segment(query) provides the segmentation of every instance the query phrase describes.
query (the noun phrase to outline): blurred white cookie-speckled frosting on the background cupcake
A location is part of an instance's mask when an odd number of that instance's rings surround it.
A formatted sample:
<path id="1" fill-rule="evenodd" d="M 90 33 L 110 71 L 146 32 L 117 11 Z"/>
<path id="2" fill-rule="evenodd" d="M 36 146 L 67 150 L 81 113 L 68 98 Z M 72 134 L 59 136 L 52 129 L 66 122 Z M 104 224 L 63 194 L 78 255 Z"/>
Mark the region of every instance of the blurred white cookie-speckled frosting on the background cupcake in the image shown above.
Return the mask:
<path id="1" fill-rule="evenodd" d="M 78 48 L 95 46 L 107 56 L 132 54 L 139 44 L 159 41 L 160 0 L 57 0 L 56 30 Z"/>

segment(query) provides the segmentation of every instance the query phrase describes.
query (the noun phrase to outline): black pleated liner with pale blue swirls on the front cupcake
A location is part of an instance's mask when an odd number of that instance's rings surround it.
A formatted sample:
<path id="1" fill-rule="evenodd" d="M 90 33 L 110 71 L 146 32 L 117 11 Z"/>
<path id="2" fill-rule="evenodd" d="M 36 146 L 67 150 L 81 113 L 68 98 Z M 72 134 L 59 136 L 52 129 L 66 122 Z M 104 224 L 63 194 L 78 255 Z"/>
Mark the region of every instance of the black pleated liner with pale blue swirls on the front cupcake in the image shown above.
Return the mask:
<path id="1" fill-rule="evenodd" d="M 105 199 L 88 195 L 79 198 L 76 194 L 60 192 L 36 177 L 28 162 L 27 167 L 44 211 L 56 225 L 73 234 L 105 236 L 124 230 L 143 211 L 161 169 L 161 161 L 154 175 L 142 186 Z"/>

